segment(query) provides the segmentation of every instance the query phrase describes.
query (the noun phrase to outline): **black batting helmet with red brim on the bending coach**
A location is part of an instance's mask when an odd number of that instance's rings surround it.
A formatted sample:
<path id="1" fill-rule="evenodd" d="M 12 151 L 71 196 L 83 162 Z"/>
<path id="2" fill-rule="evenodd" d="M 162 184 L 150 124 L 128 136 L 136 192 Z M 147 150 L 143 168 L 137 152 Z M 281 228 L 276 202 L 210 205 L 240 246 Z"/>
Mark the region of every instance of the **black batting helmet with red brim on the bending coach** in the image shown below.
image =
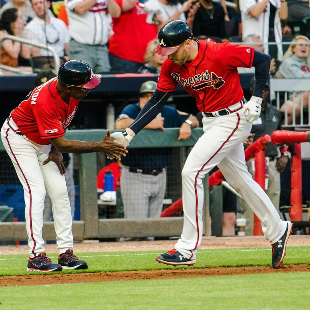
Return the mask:
<path id="1" fill-rule="evenodd" d="M 69 86 L 81 88 L 96 88 L 101 80 L 93 74 L 91 66 L 81 60 L 69 60 L 64 62 L 58 70 L 58 80 Z"/>

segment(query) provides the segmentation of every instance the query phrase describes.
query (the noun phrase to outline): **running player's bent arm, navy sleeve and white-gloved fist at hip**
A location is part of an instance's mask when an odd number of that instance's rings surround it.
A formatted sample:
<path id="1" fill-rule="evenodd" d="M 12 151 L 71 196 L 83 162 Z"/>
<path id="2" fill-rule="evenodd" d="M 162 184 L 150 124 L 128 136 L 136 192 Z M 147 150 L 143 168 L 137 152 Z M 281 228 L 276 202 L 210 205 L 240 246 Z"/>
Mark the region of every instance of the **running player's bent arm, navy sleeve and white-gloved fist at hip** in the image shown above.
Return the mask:
<path id="1" fill-rule="evenodd" d="M 243 106 L 243 110 L 240 116 L 244 116 L 246 111 L 249 113 L 246 115 L 246 121 L 252 123 L 255 119 L 259 118 L 261 104 L 262 104 L 262 97 L 263 97 L 263 90 L 266 85 L 268 75 L 269 75 L 269 68 L 270 68 L 270 60 L 271 57 L 267 54 L 255 51 L 254 58 L 252 65 L 255 67 L 255 87 L 253 96 L 250 98 L 250 101 Z"/>

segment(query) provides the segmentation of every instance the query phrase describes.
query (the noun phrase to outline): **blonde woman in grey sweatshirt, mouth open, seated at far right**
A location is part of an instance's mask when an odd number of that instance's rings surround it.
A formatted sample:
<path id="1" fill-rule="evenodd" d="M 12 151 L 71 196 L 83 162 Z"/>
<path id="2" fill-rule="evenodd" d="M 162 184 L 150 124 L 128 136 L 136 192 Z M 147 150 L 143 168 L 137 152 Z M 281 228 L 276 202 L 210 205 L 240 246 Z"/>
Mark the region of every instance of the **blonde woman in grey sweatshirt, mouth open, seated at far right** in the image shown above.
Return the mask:
<path id="1" fill-rule="evenodd" d="M 296 44 L 300 43 L 300 44 Z M 303 44 L 308 43 L 308 44 Z M 290 47 L 283 56 L 279 70 L 276 74 L 277 78 L 310 78 L 310 40 L 306 36 L 297 35 L 293 40 Z M 295 117 L 296 120 L 300 117 L 300 103 L 303 100 L 303 107 L 308 108 L 309 93 L 295 93 Z M 287 104 L 288 111 L 288 124 L 293 122 L 293 93 L 290 93 Z M 285 112 L 285 104 L 280 108 L 281 112 Z"/>

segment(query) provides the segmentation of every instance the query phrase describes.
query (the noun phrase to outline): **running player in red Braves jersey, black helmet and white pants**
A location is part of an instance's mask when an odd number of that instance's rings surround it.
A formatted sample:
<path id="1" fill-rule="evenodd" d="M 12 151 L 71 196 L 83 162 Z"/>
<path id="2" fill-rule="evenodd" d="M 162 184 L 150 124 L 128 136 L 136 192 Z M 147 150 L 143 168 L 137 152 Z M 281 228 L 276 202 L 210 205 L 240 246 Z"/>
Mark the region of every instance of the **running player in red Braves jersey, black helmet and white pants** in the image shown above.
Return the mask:
<path id="1" fill-rule="evenodd" d="M 188 155 L 182 170 L 184 226 L 175 248 L 156 257 L 168 265 L 193 265 L 202 238 L 202 178 L 218 166 L 227 182 L 250 205 L 262 222 L 272 244 L 272 267 L 285 256 L 292 223 L 282 221 L 270 199 L 247 171 L 242 141 L 260 115 L 263 88 L 268 78 L 270 56 L 252 47 L 207 42 L 193 38 L 188 24 L 172 20 L 158 34 L 156 53 L 168 55 L 159 75 L 157 90 L 135 121 L 111 135 L 128 146 L 132 138 L 162 110 L 177 83 L 195 97 L 203 112 L 204 134 Z M 237 67 L 255 67 L 255 89 L 247 103 Z"/>

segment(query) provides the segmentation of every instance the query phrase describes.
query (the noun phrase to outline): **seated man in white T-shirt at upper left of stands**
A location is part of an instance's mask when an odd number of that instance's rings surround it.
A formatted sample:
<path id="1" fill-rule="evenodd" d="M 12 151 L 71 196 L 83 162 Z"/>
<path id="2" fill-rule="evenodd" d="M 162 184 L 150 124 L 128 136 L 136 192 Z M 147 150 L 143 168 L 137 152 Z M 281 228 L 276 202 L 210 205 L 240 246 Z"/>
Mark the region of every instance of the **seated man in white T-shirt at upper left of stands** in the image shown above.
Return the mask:
<path id="1" fill-rule="evenodd" d="M 69 30 L 65 23 L 54 17 L 49 8 L 51 3 L 47 0 L 31 0 L 34 17 L 24 29 L 24 37 L 55 49 L 58 56 L 68 60 L 68 46 L 70 41 Z M 32 56 L 53 56 L 45 48 L 31 47 Z"/>

